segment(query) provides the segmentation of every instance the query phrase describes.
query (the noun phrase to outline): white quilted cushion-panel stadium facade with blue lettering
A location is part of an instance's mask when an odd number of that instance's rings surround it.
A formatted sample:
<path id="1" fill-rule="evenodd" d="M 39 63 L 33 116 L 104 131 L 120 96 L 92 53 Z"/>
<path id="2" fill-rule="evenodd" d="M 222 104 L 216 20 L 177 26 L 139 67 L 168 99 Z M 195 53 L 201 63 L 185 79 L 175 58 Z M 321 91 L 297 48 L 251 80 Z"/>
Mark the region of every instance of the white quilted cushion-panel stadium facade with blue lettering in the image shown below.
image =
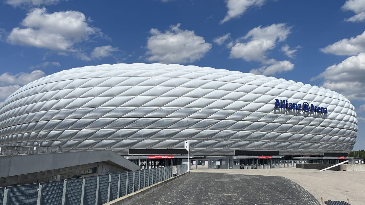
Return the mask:
<path id="1" fill-rule="evenodd" d="M 192 155 L 322 155 L 351 151 L 356 136 L 354 106 L 341 94 L 211 67 L 78 67 L 23 86 L 0 107 L 0 146 L 127 155 L 189 140 Z"/>

